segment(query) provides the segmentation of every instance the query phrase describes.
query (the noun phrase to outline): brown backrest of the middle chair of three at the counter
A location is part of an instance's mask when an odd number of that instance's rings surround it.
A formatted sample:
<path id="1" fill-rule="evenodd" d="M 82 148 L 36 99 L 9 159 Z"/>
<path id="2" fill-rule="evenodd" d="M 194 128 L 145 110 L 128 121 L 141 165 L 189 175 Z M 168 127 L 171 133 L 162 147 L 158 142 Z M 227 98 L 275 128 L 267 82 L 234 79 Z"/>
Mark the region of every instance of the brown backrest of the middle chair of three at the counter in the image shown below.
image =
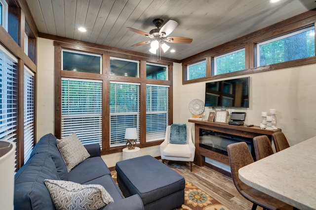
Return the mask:
<path id="1" fill-rule="evenodd" d="M 268 136 L 256 136 L 253 138 L 256 159 L 260 160 L 274 153 Z"/>

